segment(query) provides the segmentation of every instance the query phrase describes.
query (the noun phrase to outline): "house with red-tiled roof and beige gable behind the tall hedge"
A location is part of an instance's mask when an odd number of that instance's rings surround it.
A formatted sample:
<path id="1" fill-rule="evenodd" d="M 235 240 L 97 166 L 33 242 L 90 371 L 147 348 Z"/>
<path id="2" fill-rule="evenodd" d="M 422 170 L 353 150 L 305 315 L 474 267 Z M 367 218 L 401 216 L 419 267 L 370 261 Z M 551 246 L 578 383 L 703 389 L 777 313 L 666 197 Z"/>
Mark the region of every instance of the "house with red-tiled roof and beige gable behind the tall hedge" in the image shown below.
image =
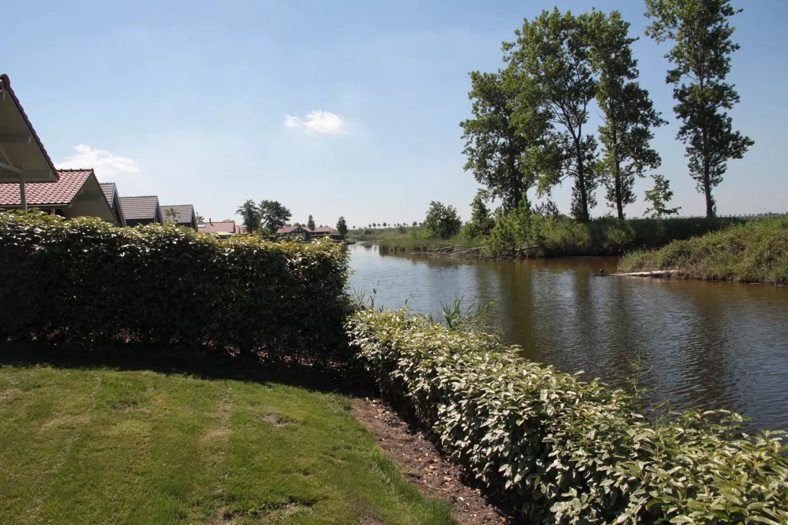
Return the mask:
<path id="1" fill-rule="evenodd" d="M 59 169 L 57 181 L 33 182 L 24 186 L 28 207 L 65 218 L 88 216 L 117 223 L 93 169 Z M 0 184 L 0 208 L 24 209 L 20 184 Z"/>

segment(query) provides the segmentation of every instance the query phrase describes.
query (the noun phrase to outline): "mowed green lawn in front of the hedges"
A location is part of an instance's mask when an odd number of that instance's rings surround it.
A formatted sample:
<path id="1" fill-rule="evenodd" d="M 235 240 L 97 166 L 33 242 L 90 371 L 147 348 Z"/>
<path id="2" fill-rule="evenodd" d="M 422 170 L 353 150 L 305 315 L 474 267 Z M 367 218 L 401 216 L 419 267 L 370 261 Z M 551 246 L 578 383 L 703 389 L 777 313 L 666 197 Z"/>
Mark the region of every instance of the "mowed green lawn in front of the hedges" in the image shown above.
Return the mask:
<path id="1" fill-rule="evenodd" d="M 454 523 L 297 371 L 43 353 L 0 346 L 0 523 Z"/>

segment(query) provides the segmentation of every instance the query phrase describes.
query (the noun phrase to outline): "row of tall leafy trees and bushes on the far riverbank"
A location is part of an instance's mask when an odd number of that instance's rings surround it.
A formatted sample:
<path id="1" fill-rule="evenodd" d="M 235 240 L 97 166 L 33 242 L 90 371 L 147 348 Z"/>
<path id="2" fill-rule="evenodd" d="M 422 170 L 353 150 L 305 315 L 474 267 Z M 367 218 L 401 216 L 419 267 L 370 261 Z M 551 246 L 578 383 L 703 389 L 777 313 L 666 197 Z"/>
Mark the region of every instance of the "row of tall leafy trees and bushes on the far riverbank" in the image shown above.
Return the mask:
<path id="1" fill-rule="evenodd" d="M 742 9 L 729 0 L 646 0 L 651 20 L 645 34 L 656 43 L 671 43 L 665 57 L 673 65 L 666 82 L 673 86 L 675 117 L 681 125 L 676 138 L 686 146 L 690 177 L 704 195 L 706 218 L 716 217 L 712 188 L 723 181 L 727 162 L 742 158 L 754 141 L 735 131 L 727 111 L 739 102 L 725 80 L 731 54 L 739 46 L 731 39 L 729 19 Z M 645 214 L 663 218 L 671 208 L 670 182 L 653 173 L 661 164 L 650 142 L 653 129 L 666 125 L 649 91 L 637 79 L 637 59 L 630 23 L 618 11 L 592 10 L 575 16 L 559 9 L 543 11 L 515 31 L 504 43 L 506 67 L 496 73 L 470 73 L 474 117 L 463 121 L 466 170 L 485 186 L 474 199 L 466 237 L 499 245 L 492 251 L 519 249 L 529 243 L 533 218 L 559 218 L 550 199 L 557 184 L 572 184 L 571 218 L 591 222 L 597 189 L 623 221 L 625 207 L 637 199 L 636 177 L 650 174 L 653 187 L 645 192 Z M 589 108 L 596 103 L 602 123 L 589 128 Z M 535 189 L 545 203 L 534 209 L 527 192 Z M 500 206 L 490 211 L 488 204 Z M 438 209 L 440 208 L 440 209 Z M 429 229 L 442 238 L 459 233 L 452 207 L 432 203 L 430 212 L 448 214 L 445 231 Z M 455 214 L 455 212 L 454 212 Z M 429 222 L 429 218 L 428 218 Z M 459 224 L 459 225 L 457 225 Z"/>

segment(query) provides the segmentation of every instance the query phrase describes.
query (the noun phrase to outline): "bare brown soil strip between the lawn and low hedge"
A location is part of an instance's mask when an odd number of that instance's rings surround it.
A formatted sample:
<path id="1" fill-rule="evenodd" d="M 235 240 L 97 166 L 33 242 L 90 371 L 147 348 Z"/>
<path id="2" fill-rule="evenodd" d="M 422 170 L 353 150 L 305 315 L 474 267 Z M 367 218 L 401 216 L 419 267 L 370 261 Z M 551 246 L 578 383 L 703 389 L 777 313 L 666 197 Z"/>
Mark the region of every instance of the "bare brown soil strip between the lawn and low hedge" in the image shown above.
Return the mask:
<path id="1" fill-rule="evenodd" d="M 351 411 L 374 435 L 377 446 L 423 493 L 454 506 L 459 523 L 522 523 L 467 483 L 470 480 L 463 467 L 448 463 L 421 429 L 401 419 L 381 400 L 356 399 Z"/>

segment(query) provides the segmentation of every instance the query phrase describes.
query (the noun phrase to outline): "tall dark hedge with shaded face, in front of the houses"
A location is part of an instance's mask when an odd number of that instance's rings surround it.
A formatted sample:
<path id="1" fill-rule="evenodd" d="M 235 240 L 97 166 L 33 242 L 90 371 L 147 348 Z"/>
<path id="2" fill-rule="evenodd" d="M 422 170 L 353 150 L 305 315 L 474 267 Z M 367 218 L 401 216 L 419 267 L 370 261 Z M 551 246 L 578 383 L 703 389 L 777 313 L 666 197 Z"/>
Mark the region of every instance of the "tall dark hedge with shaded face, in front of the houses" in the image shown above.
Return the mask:
<path id="1" fill-rule="evenodd" d="M 347 275 L 347 256 L 329 242 L 217 240 L 173 225 L 0 213 L 6 333 L 327 358 L 345 341 Z"/>

